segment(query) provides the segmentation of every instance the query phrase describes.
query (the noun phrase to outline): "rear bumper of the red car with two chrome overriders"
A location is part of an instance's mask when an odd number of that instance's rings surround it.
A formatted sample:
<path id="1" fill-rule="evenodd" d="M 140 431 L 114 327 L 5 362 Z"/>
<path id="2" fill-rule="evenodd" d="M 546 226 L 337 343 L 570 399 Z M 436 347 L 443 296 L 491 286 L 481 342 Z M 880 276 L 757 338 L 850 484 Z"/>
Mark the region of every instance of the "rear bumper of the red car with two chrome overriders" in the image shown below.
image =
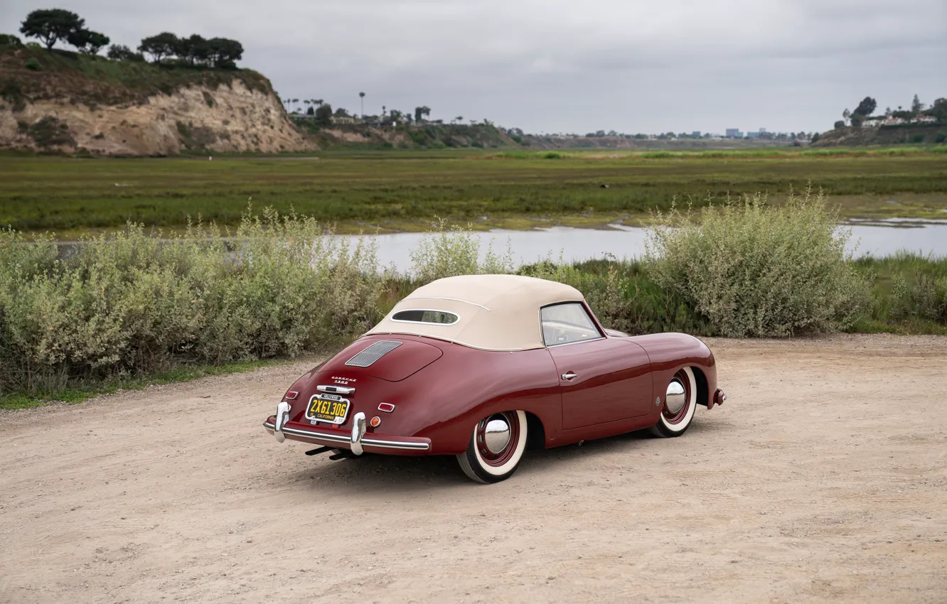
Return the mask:
<path id="1" fill-rule="evenodd" d="M 400 453 L 424 454 L 431 450 L 429 438 L 408 438 L 404 436 L 389 436 L 366 434 L 365 414 L 356 413 L 352 417 L 350 432 L 342 430 L 320 430 L 318 426 L 290 421 L 290 405 L 280 402 L 277 405 L 277 415 L 268 417 L 263 422 L 266 431 L 274 435 L 278 442 L 287 438 L 302 442 L 313 442 L 333 449 L 348 449 L 356 455 L 369 453 Z"/>

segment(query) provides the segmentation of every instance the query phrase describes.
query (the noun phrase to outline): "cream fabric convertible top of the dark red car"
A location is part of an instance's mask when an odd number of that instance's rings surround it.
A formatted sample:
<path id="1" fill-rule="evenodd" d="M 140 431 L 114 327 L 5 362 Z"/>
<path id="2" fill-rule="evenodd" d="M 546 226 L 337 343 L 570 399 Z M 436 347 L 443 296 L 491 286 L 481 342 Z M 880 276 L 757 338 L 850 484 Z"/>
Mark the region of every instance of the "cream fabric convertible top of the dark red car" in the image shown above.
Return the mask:
<path id="1" fill-rule="evenodd" d="M 418 288 L 368 333 L 412 333 L 484 350 L 542 348 L 540 307 L 581 302 L 579 290 L 555 281 L 520 275 L 463 275 Z M 453 325 L 392 321 L 399 311 L 447 311 Z"/>

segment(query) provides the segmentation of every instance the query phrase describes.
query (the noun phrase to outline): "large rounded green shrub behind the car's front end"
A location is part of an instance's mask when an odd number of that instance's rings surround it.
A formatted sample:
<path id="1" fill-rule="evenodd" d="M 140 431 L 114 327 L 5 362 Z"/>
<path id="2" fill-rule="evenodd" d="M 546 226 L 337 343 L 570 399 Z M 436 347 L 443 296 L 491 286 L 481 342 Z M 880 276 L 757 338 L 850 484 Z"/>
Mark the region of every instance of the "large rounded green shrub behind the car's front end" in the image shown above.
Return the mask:
<path id="1" fill-rule="evenodd" d="M 867 282 L 848 262 L 849 232 L 819 192 L 727 199 L 699 217 L 657 215 L 646 240 L 655 282 L 729 337 L 838 331 L 859 317 Z"/>

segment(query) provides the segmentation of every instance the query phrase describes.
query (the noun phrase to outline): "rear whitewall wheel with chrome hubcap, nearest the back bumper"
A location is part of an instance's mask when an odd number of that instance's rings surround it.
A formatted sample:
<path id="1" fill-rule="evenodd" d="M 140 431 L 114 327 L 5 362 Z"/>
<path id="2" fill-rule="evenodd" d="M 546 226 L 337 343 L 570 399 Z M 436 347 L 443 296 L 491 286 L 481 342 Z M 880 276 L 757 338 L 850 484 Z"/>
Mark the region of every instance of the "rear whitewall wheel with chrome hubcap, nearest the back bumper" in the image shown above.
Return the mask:
<path id="1" fill-rule="evenodd" d="M 477 422 L 467 451 L 457 455 L 457 462 L 471 479 L 497 483 L 513 475 L 526 448 L 527 414 L 494 413 Z"/>

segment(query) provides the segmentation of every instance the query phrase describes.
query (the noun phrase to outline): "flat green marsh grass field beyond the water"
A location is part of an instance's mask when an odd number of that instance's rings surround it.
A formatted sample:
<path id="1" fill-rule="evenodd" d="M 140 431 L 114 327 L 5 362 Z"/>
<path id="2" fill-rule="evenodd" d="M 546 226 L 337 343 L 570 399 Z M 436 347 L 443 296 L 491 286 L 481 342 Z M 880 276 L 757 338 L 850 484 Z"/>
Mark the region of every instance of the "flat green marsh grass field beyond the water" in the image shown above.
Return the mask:
<path id="1" fill-rule="evenodd" d="M 479 227 L 635 219 L 675 198 L 728 191 L 777 199 L 808 182 L 844 216 L 943 217 L 943 148 L 763 151 L 331 151 L 318 156 L 0 158 L 0 224 L 63 239 L 126 221 L 234 224 L 248 203 L 291 207 L 342 231 L 422 229 L 435 216 Z M 897 196 L 900 205 L 887 200 Z"/>

